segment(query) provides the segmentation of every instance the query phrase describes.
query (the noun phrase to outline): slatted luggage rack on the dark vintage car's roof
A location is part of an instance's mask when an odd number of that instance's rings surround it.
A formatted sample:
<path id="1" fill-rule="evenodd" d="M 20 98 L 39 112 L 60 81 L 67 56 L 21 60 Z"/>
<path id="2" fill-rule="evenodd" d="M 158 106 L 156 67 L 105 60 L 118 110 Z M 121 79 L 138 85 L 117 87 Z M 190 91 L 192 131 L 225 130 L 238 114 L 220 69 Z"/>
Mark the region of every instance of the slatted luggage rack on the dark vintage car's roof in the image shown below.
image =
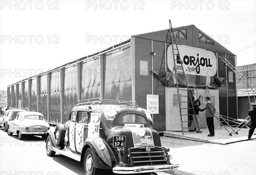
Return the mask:
<path id="1" fill-rule="evenodd" d="M 120 104 L 120 105 L 129 105 L 129 106 L 137 106 L 137 103 L 133 101 L 125 101 L 125 100 L 111 100 L 111 99 L 102 99 L 102 98 L 90 98 L 86 100 L 79 100 L 76 106 L 80 105 L 92 105 L 94 103 L 98 104 Z"/>

